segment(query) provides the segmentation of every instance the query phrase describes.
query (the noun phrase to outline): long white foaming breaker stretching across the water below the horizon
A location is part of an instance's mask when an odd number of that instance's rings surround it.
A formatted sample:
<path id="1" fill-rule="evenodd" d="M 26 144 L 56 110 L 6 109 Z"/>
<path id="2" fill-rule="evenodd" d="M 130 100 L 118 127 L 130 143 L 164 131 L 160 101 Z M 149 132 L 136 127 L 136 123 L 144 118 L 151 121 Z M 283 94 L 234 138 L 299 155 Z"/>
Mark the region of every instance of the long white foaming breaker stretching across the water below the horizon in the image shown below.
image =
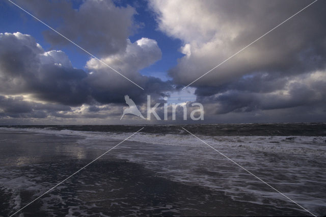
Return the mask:
<path id="1" fill-rule="evenodd" d="M 76 131 L 76 130 L 53 130 L 48 128 L 6 128 L 5 130 L 24 130 L 34 133 L 49 133 L 58 136 L 76 136 L 81 137 L 79 144 L 92 145 L 96 147 L 96 141 L 121 141 L 129 137 L 131 132 L 93 132 L 93 131 Z M 212 147 L 219 149 L 223 147 L 247 149 L 251 151 L 260 151 L 268 153 L 283 153 L 294 155 L 311 155 L 326 156 L 326 137 L 311 136 L 208 136 L 198 135 Z M 195 138 L 191 134 L 159 134 L 159 133 L 143 133 L 134 134 L 128 141 L 141 142 L 148 144 L 167 145 L 167 146 L 189 146 L 201 147 L 205 145 L 203 142 Z M 97 148 L 106 148 L 98 146 Z"/>

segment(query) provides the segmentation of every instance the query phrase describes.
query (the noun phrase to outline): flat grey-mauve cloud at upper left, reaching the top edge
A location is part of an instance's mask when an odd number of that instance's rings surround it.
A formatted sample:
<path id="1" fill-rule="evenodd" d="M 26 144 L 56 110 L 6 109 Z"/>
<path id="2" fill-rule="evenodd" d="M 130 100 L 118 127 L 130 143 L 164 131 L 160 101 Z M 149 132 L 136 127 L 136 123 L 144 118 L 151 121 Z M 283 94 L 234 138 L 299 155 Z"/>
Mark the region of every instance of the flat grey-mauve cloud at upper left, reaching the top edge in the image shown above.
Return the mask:
<path id="1" fill-rule="evenodd" d="M 99 56 L 124 51 L 126 38 L 137 28 L 132 18 L 135 10 L 129 6 L 116 7 L 110 0 L 87 0 L 77 9 L 71 2 L 63 0 L 16 2 L 36 17 L 50 22 L 65 37 Z M 56 22 L 51 24 L 53 20 Z M 44 37 L 52 45 L 70 44 L 52 30 L 45 31 Z"/>

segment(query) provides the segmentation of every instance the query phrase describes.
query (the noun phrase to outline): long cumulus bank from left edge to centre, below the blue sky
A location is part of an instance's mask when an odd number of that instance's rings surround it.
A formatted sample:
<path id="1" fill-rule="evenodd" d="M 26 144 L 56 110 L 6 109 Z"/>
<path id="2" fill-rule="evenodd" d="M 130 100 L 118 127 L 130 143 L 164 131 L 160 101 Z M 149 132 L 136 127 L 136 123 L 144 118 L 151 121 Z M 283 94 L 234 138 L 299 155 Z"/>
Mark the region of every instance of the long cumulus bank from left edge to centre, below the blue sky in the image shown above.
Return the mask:
<path id="1" fill-rule="evenodd" d="M 44 51 L 30 35 L 0 34 L 0 48 L 0 93 L 5 95 L 31 94 L 37 100 L 79 106 L 121 104 L 125 94 L 140 103 L 146 94 L 160 97 L 173 89 L 169 82 L 139 73 L 161 57 L 156 41 L 148 38 L 127 40 L 126 52 L 102 59 L 146 91 L 95 59 L 88 61 L 87 71 L 73 68 L 63 51 Z"/>

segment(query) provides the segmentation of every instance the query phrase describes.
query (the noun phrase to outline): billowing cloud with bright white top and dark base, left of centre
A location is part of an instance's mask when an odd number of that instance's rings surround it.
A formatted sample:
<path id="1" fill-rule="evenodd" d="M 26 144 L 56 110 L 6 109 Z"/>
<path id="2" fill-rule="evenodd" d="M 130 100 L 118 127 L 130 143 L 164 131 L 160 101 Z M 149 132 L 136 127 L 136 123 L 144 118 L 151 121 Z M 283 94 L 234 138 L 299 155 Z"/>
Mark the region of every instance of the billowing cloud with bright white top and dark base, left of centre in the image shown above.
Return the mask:
<path id="1" fill-rule="evenodd" d="M 115 82 L 121 79 L 121 75 L 92 58 L 86 64 L 86 68 L 90 72 L 88 84 L 92 87 L 92 96 L 102 103 L 110 101 L 110 99 L 112 99 L 111 102 L 125 103 L 123 96 L 126 94 L 129 94 L 135 103 L 146 101 L 147 94 L 157 98 L 165 96 L 166 91 L 173 90 L 171 82 L 162 82 L 159 78 L 147 77 L 138 73 L 139 70 L 159 60 L 161 55 L 161 50 L 155 40 L 142 38 L 134 43 L 127 40 L 125 53 L 101 59 L 145 90 L 141 90 L 128 81 Z"/>

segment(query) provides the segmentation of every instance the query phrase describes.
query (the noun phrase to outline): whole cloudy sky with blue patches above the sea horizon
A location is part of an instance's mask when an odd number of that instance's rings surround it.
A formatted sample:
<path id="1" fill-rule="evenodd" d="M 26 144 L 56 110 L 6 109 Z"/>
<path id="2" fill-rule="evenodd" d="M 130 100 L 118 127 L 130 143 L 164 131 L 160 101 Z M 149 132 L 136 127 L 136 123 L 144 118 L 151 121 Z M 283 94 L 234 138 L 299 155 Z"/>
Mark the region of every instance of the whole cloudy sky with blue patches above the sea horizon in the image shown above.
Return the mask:
<path id="1" fill-rule="evenodd" d="M 325 1 L 13 2 L 61 35 L 0 1 L 0 125 L 326 122 Z"/>

